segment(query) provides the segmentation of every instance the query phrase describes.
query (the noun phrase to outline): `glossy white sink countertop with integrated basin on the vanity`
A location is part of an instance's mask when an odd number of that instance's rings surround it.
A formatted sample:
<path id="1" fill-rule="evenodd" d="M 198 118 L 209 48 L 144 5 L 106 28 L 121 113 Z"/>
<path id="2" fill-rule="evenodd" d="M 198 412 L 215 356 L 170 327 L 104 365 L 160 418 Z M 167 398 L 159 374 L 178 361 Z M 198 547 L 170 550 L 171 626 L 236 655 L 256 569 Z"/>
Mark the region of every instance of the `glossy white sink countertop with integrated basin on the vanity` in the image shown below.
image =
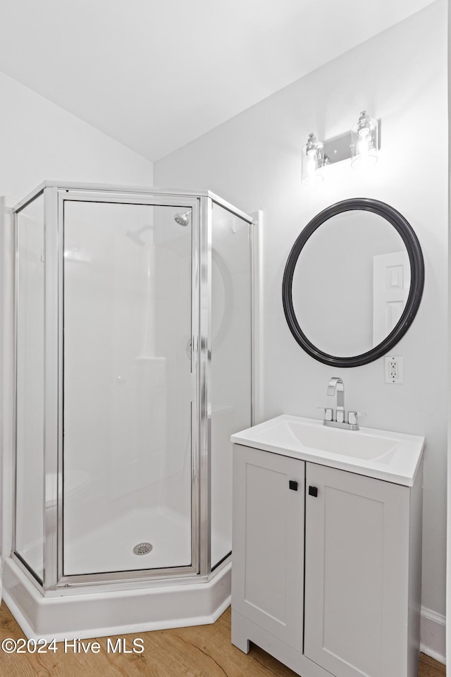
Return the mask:
<path id="1" fill-rule="evenodd" d="M 407 486 L 414 482 L 424 449 L 424 437 L 326 427 L 319 420 L 289 415 L 247 428 L 231 440 Z"/>

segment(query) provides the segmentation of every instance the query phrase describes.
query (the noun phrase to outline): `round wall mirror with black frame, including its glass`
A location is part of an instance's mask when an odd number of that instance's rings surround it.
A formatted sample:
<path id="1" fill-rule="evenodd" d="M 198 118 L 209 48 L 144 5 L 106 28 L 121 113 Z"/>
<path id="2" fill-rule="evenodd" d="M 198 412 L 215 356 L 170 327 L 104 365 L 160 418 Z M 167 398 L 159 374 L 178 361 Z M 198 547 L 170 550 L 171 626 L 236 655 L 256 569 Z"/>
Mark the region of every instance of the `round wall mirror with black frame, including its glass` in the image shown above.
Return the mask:
<path id="1" fill-rule="evenodd" d="M 423 255 L 404 216 L 357 198 L 324 209 L 299 235 L 285 266 L 283 307 L 309 355 L 357 367 L 400 340 L 423 286 Z"/>

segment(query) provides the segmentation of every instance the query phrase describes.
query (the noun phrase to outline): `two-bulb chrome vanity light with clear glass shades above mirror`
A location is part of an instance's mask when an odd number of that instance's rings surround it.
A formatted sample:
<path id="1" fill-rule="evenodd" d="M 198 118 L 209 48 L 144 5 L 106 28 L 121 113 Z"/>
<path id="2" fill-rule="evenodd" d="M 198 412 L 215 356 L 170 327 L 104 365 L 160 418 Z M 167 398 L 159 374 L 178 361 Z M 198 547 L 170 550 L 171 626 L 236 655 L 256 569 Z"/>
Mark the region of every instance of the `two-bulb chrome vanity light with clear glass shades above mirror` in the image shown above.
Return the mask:
<path id="1" fill-rule="evenodd" d="M 378 161 L 379 121 L 362 111 L 350 132 L 321 142 L 314 133 L 309 134 L 302 146 L 302 183 L 316 185 L 323 181 L 323 169 L 350 159 L 353 169 L 366 169 Z"/>

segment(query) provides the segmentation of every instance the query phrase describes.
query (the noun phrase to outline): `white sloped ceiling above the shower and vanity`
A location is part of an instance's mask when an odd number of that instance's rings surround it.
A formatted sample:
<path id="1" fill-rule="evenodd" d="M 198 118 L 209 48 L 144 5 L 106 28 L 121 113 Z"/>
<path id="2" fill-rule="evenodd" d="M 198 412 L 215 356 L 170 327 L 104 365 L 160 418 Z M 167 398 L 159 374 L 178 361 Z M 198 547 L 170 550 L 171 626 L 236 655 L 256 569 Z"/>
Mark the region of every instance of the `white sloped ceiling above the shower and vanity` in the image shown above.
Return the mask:
<path id="1" fill-rule="evenodd" d="M 0 70 L 155 160 L 432 1 L 0 0 Z"/>

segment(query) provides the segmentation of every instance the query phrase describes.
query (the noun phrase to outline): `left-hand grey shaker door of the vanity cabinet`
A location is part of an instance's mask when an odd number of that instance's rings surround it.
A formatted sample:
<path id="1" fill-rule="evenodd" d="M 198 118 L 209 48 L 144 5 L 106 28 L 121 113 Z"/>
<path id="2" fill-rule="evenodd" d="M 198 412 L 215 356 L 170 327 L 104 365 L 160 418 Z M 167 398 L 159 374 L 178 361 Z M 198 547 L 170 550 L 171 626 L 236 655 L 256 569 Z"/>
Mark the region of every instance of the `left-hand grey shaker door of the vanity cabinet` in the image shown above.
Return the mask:
<path id="1" fill-rule="evenodd" d="M 302 652 L 304 461 L 233 448 L 233 610 Z"/>

